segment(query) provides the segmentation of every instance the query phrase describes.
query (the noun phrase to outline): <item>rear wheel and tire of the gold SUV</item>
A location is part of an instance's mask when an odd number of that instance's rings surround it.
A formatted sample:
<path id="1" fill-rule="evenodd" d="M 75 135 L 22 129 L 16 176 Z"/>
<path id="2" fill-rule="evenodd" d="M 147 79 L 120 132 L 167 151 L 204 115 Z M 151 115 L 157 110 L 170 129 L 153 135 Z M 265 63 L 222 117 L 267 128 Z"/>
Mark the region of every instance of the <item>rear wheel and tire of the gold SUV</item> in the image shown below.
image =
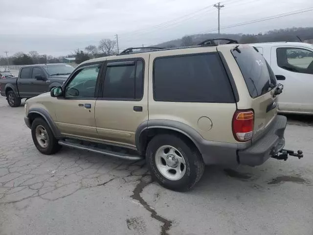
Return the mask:
<path id="1" fill-rule="evenodd" d="M 146 160 L 153 179 L 175 191 L 191 189 L 204 171 L 198 149 L 175 135 L 154 137 L 148 144 Z"/>

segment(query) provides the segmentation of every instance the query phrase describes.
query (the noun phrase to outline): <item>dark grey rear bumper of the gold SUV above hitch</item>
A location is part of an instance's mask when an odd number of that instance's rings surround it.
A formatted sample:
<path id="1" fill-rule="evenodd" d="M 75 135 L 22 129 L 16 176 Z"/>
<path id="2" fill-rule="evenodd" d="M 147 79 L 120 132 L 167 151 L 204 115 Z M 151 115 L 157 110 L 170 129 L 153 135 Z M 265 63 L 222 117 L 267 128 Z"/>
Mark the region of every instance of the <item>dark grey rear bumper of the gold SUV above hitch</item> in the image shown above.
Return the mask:
<path id="1" fill-rule="evenodd" d="M 268 133 L 244 150 L 238 150 L 238 161 L 244 165 L 261 165 L 272 155 L 278 153 L 285 146 L 284 132 L 287 118 L 278 115 L 268 127 Z"/>

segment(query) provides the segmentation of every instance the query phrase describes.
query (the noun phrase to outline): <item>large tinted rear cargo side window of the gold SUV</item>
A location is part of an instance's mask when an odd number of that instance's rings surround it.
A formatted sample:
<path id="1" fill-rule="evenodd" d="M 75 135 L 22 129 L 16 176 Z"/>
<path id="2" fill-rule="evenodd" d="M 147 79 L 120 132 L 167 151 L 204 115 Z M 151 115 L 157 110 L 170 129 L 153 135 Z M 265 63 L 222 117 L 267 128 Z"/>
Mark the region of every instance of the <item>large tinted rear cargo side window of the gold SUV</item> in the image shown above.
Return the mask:
<path id="1" fill-rule="evenodd" d="M 156 101 L 235 102 L 217 53 L 156 58 L 153 79 Z"/>

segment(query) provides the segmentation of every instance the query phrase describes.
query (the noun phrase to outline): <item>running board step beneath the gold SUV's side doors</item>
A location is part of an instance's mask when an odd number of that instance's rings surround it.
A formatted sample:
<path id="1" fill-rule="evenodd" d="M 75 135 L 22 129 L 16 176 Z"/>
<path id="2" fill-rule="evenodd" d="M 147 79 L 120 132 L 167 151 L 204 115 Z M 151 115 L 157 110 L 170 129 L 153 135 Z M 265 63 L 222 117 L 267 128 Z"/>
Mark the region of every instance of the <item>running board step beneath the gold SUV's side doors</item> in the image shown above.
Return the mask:
<path id="1" fill-rule="evenodd" d="M 124 160 L 137 161 L 137 160 L 142 160 L 143 159 L 139 155 L 136 156 L 136 155 L 130 155 L 130 154 L 125 154 L 125 153 L 118 153 L 118 152 L 113 152 L 113 151 L 109 151 L 109 150 L 102 149 L 102 148 L 86 146 L 86 145 L 79 144 L 79 143 L 73 143 L 73 142 L 68 142 L 68 141 L 63 141 L 63 140 L 60 140 L 58 143 L 60 145 L 63 145 L 63 146 L 77 148 L 77 149 L 83 149 L 83 150 L 88 150 L 90 152 L 101 153 L 101 154 L 105 154 L 105 155 L 108 155 L 108 156 L 111 156 L 111 157 L 120 158 L 120 159 L 124 159 Z"/>

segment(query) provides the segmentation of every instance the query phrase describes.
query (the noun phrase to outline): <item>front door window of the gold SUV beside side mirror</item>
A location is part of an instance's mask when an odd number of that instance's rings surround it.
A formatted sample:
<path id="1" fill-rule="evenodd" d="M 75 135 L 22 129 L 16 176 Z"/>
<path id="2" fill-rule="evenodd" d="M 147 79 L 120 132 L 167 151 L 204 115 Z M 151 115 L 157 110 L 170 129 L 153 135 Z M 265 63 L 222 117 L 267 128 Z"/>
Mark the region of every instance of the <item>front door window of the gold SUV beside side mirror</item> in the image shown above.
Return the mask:
<path id="1" fill-rule="evenodd" d="M 101 64 L 78 71 L 67 84 L 65 97 L 94 97 L 96 82 Z"/>

